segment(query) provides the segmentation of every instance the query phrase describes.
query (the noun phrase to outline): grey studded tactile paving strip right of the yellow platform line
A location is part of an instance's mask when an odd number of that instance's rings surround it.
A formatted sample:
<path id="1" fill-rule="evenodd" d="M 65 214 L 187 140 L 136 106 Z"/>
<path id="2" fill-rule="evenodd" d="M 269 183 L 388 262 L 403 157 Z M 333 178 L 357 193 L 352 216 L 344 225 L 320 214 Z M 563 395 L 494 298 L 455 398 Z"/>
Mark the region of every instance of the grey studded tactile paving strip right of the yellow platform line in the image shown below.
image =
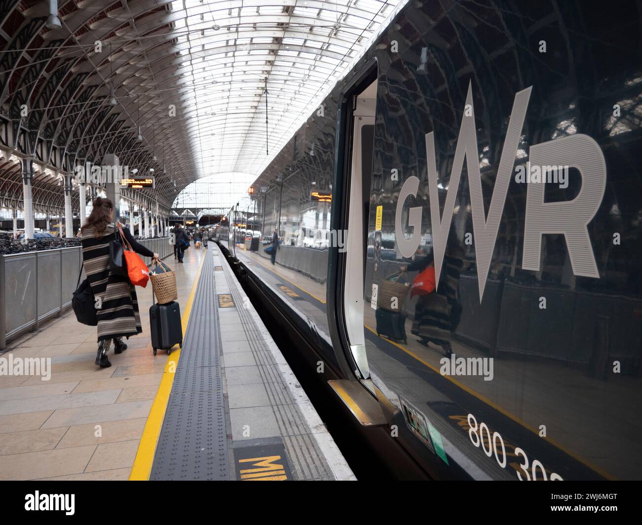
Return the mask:
<path id="1" fill-rule="evenodd" d="M 229 479 L 212 254 L 189 316 L 150 479 Z"/>

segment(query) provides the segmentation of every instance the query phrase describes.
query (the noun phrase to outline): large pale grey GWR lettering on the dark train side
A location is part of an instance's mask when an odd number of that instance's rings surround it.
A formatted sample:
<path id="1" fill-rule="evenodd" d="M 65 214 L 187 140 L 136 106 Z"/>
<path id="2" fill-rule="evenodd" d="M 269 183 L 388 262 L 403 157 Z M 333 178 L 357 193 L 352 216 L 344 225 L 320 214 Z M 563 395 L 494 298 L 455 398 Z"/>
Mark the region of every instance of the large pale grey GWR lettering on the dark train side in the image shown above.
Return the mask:
<path id="1" fill-rule="evenodd" d="M 508 129 L 501 151 L 497 178 L 492 192 L 488 217 L 485 215 L 482 178 L 480 176 L 477 131 L 474 121 L 473 90 L 468 85 L 468 95 L 462 124 L 455 149 L 455 159 L 450 175 L 444 215 L 440 216 L 437 190 L 437 162 L 435 159 L 435 140 L 433 132 L 426 135 L 426 160 L 428 161 L 428 190 L 430 198 L 430 217 L 435 256 L 435 283 L 439 285 L 446 242 L 453 219 L 453 208 L 462 176 L 464 160 L 468 171 L 468 184 L 473 211 L 473 232 L 480 303 L 495 247 L 499 221 L 504 211 L 508 184 L 510 183 L 519 138 L 522 134 L 526 109 L 532 87 L 518 92 L 508 122 Z M 595 263 L 591 238 L 587 224 L 593 219 L 606 188 L 606 164 L 602 150 L 597 142 L 588 135 L 577 133 L 550 142 L 534 144 L 530 147 L 529 160 L 532 165 L 568 165 L 576 168 L 582 176 L 582 187 L 572 201 L 544 203 L 544 185 L 528 183 L 526 191 L 526 215 L 524 221 L 524 249 L 522 268 L 539 271 L 542 235 L 560 233 L 566 239 L 571 267 L 575 275 L 600 278 Z M 410 208 L 408 224 L 413 227 L 410 238 L 404 236 L 401 226 L 401 212 L 409 196 L 416 197 L 419 179 L 415 176 L 404 181 L 395 214 L 395 237 L 399 252 L 404 257 L 412 257 L 417 250 L 421 235 L 421 213 L 419 206 Z"/>

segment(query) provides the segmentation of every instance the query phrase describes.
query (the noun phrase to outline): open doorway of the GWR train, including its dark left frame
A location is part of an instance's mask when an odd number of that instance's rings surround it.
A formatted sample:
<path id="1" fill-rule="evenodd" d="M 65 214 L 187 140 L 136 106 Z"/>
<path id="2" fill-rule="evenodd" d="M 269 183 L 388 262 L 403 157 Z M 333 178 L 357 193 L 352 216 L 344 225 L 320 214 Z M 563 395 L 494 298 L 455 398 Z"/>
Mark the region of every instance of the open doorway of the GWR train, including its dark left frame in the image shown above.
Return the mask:
<path id="1" fill-rule="evenodd" d="M 334 266 L 337 269 L 335 310 L 339 311 L 338 324 L 342 326 L 341 347 L 347 354 L 351 379 L 356 376 L 366 385 L 370 371 L 365 352 L 363 304 L 376 93 L 376 76 L 370 76 L 369 81 L 356 88 L 344 104 L 349 109 L 342 122 L 343 129 L 349 131 L 343 141 L 347 150 L 343 164 L 346 191 L 342 201 L 342 229 L 333 228 L 330 238 L 331 249 L 338 252 L 341 260 Z M 334 224 L 337 226 L 336 222 Z"/>

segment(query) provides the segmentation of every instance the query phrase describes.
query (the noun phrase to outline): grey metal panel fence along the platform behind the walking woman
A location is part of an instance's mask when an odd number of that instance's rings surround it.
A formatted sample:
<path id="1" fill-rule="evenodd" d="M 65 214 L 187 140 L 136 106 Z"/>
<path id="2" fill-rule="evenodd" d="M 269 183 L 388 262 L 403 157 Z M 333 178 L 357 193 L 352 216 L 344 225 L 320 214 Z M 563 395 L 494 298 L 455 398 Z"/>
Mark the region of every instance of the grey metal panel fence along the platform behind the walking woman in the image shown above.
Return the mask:
<path id="1" fill-rule="evenodd" d="M 161 258 L 174 253 L 169 237 L 139 242 Z M 80 246 L 0 255 L 0 350 L 11 338 L 38 329 L 40 322 L 71 306 L 81 267 Z"/>

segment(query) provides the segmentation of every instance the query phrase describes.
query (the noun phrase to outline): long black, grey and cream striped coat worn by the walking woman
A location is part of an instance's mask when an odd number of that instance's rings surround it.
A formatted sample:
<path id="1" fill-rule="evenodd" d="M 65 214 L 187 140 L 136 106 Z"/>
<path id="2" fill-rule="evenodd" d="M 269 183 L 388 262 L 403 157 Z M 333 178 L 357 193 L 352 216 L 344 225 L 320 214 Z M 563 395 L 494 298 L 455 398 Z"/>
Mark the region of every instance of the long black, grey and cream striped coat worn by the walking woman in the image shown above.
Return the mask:
<path id="1" fill-rule="evenodd" d="M 109 243 L 115 240 L 114 225 L 108 224 L 103 237 L 92 227 L 82 230 L 82 256 L 85 274 L 94 297 L 100 297 L 98 341 L 129 337 L 143 331 L 134 285 L 127 276 L 109 270 Z"/>

